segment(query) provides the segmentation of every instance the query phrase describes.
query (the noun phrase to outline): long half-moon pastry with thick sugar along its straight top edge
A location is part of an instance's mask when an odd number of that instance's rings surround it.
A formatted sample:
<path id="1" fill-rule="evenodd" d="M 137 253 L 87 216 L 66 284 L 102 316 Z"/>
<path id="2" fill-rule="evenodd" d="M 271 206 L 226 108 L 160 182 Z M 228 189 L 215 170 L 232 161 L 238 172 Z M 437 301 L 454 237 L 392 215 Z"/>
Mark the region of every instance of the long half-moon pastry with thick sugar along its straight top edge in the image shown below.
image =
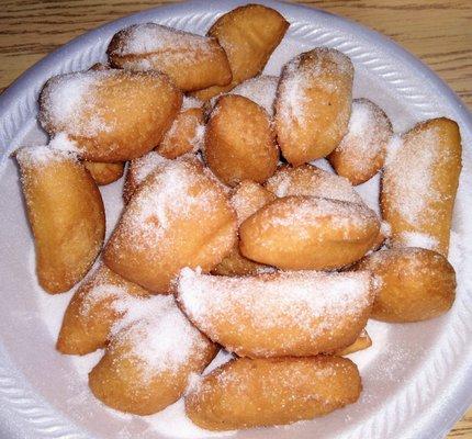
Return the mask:
<path id="1" fill-rule="evenodd" d="M 239 357 L 305 357 L 352 345 L 374 290 L 366 272 L 222 277 L 183 269 L 178 301 L 209 338 Z"/>

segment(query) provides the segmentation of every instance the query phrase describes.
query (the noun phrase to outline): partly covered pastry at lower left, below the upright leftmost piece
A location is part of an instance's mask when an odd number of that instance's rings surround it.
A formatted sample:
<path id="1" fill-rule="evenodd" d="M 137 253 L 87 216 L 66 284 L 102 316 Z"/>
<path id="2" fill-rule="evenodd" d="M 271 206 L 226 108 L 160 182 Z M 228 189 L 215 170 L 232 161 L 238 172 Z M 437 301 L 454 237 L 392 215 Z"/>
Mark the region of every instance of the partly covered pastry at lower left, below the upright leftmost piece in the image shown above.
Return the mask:
<path id="1" fill-rule="evenodd" d="M 64 314 L 56 348 L 82 356 L 104 348 L 112 326 L 133 297 L 150 293 L 101 264 L 74 293 Z"/>

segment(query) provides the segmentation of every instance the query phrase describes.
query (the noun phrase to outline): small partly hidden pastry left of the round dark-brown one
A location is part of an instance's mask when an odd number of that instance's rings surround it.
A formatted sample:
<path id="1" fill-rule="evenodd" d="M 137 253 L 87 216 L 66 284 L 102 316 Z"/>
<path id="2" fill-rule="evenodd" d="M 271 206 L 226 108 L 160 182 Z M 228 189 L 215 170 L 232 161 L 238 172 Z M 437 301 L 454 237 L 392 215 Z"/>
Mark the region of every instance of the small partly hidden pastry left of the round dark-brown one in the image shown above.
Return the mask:
<path id="1" fill-rule="evenodd" d="M 186 98 L 184 102 L 188 99 Z M 156 150 L 166 158 L 196 153 L 203 144 L 204 133 L 203 108 L 182 109 Z"/>

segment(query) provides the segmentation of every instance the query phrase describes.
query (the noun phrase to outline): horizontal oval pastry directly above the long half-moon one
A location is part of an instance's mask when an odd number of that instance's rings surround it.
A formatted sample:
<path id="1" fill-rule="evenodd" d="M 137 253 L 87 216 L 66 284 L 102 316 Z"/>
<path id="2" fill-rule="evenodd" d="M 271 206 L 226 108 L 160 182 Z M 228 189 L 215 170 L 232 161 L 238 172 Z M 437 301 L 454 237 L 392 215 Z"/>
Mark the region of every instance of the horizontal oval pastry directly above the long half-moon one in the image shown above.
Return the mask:
<path id="1" fill-rule="evenodd" d="M 286 196 L 240 225 L 239 250 L 282 270 L 330 270 L 362 258 L 379 229 L 375 213 L 362 204 Z"/>

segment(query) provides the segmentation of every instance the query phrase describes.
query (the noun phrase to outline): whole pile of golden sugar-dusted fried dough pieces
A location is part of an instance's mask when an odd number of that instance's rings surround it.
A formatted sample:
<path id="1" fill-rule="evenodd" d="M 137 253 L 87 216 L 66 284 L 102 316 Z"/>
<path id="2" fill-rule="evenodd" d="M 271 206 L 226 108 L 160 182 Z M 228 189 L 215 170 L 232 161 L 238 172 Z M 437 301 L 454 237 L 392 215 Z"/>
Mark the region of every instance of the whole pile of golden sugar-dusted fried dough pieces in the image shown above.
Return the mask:
<path id="1" fill-rule="evenodd" d="M 333 48 L 260 75 L 288 27 L 258 4 L 206 36 L 135 24 L 109 64 L 42 90 L 50 142 L 15 154 L 37 277 L 61 293 L 97 262 L 57 349 L 104 349 L 89 385 L 110 407 L 148 415 L 184 396 L 210 430 L 311 419 L 359 398 L 342 356 L 371 346 L 369 318 L 452 306 L 458 125 L 394 134 L 375 103 L 352 100 L 353 66 Z M 104 245 L 98 185 L 125 166 Z M 355 190 L 379 172 L 380 214 Z M 204 373 L 221 348 L 234 358 Z"/>

